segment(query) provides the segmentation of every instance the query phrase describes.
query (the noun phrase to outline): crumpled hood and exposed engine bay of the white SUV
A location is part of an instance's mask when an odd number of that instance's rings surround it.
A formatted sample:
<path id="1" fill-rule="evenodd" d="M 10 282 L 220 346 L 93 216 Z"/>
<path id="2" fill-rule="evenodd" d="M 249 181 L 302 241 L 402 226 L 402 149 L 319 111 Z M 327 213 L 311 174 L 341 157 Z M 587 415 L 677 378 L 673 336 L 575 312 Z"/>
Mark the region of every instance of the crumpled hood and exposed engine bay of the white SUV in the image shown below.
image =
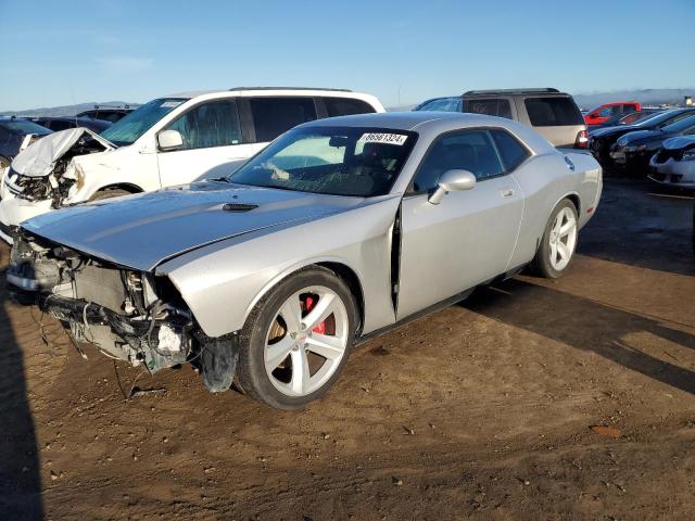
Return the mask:
<path id="1" fill-rule="evenodd" d="M 73 187 L 81 188 L 84 174 L 74 157 L 113 150 L 109 141 L 86 128 L 54 132 L 31 143 L 12 162 L 7 189 L 28 201 L 51 201 L 59 208 Z"/>

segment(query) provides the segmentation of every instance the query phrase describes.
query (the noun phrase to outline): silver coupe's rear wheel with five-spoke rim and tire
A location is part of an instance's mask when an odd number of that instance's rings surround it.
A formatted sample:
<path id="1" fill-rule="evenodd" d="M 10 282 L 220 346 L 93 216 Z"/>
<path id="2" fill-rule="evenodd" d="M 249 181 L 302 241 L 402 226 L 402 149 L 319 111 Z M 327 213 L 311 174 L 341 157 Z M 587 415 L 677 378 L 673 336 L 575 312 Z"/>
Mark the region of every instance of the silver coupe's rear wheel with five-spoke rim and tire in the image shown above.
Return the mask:
<path id="1" fill-rule="evenodd" d="M 577 208 L 565 199 L 551 214 L 541 246 L 533 259 L 535 271 L 546 279 L 557 279 L 569 268 L 578 236 Z"/>

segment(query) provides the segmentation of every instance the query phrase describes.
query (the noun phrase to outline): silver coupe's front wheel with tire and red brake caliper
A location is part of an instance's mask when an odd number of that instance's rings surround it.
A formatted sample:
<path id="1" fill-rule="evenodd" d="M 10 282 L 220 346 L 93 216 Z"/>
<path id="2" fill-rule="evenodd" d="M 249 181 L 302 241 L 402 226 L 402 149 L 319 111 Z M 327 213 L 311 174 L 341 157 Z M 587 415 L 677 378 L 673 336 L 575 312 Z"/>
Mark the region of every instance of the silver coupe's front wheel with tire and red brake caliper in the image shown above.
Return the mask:
<path id="1" fill-rule="evenodd" d="M 323 396 L 354 341 L 355 301 L 332 271 L 315 267 L 281 281 L 241 332 L 237 382 L 250 396 L 300 409 Z"/>

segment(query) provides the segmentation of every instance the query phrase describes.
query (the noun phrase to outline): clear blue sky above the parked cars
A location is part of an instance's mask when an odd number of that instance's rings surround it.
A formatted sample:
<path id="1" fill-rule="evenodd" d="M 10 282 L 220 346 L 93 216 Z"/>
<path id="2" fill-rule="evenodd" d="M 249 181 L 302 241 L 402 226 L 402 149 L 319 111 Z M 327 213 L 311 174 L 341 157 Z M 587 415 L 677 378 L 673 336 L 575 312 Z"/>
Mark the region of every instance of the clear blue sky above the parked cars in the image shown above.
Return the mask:
<path id="1" fill-rule="evenodd" d="M 384 105 L 472 88 L 695 87 L 695 0 L 0 0 L 0 110 L 233 86 Z"/>

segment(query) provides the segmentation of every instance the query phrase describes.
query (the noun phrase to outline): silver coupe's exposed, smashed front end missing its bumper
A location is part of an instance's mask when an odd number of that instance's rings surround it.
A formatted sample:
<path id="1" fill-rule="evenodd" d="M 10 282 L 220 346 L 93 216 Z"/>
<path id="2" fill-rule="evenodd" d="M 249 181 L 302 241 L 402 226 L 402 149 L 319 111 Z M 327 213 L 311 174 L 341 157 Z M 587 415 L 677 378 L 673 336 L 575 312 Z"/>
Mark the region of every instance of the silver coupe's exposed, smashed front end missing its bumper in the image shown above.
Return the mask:
<path id="1" fill-rule="evenodd" d="M 166 277 L 91 258 L 22 231 L 7 279 L 16 302 L 38 305 L 77 342 L 106 356 L 151 373 L 198 360 L 211 391 L 231 385 L 233 335 L 207 338 Z"/>

